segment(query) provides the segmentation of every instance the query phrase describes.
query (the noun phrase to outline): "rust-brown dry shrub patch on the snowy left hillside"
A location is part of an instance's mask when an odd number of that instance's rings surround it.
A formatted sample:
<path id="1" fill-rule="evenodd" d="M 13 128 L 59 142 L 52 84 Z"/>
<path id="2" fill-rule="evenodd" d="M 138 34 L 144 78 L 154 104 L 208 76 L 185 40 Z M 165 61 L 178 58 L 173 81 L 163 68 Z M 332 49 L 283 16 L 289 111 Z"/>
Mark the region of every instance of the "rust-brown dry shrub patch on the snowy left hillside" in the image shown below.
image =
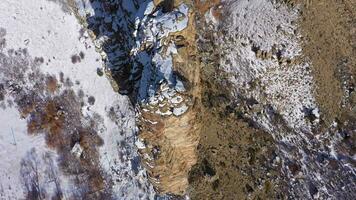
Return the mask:
<path id="1" fill-rule="evenodd" d="M 51 79 L 46 83 L 48 82 L 56 81 Z M 27 128 L 29 134 L 45 134 L 47 145 L 56 149 L 61 157 L 60 165 L 63 171 L 83 179 L 77 185 L 79 188 L 88 189 L 83 194 L 86 199 L 97 199 L 105 196 L 107 191 L 105 175 L 99 167 L 98 147 L 103 141 L 95 130 L 95 120 L 91 120 L 88 126 L 80 122 L 82 114 L 78 100 L 73 91 L 67 91 L 43 101 L 33 102 L 34 106 L 31 107 L 37 109 L 29 112 L 31 117 Z M 79 160 L 71 154 L 76 142 L 79 142 L 83 149 Z"/>

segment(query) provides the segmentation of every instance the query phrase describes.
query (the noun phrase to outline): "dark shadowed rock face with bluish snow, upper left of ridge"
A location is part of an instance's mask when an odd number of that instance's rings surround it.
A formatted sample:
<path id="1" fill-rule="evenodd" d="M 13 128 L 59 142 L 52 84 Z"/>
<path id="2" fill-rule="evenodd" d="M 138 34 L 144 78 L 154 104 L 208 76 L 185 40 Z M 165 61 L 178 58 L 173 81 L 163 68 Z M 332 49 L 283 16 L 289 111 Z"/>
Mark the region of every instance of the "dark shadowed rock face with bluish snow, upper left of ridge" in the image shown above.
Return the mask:
<path id="1" fill-rule="evenodd" d="M 106 67 L 120 93 L 141 102 L 153 97 L 163 82 L 172 89 L 177 84 L 181 87 L 172 69 L 175 46 L 164 44 L 164 39 L 185 28 L 185 5 L 173 9 L 168 2 L 155 8 L 148 0 L 94 1 L 91 5 L 94 12 L 87 19 L 88 28 L 98 42 L 103 40 L 100 48 L 106 55 Z M 173 51 L 164 52 L 167 47 Z"/>

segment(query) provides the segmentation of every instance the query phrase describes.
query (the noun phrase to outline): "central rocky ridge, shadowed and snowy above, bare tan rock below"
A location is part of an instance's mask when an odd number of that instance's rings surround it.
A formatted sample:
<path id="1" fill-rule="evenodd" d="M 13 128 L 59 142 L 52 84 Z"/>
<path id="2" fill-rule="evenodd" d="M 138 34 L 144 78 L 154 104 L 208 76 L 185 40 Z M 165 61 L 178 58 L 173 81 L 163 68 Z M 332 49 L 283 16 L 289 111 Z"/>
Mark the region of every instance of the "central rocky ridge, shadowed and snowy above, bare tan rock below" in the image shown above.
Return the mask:
<path id="1" fill-rule="evenodd" d="M 137 145 L 151 182 L 161 193 L 179 195 L 188 186 L 199 140 L 194 104 L 200 68 L 190 9 L 180 1 L 113 1 L 77 11 L 92 31 L 114 87 L 137 106 Z"/>

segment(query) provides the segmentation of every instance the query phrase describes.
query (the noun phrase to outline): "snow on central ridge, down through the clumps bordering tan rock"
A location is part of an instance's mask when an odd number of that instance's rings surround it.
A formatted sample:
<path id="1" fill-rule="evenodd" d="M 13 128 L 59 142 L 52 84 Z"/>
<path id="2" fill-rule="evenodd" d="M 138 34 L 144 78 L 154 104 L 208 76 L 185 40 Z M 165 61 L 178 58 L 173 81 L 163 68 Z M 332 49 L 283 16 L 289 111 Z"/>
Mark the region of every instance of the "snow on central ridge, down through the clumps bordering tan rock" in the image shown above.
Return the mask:
<path id="1" fill-rule="evenodd" d="M 177 49 L 174 43 L 169 42 L 166 44 L 164 42 L 165 38 L 174 32 L 183 30 L 188 24 L 188 7 L 185 4 L 181 4 L 176 10 L 170 13 L 163 14 L 161 11 L 153 13 L 154 18 L 150 19 L 148 17 L 143 18 L 141 29 L 138 31 L 138 39 L 143 39 L 142 41 L 137 41 L 137 50 L 133 50 L 139 54 L 141 48 L 141 43 L 152 42 L 155 45 L 155 53 L 152 56 L 152 67 L 144 69 L 140 86 L 142 86 L 139 91 L 139 98 L 142 104 L 157 105 L 160 108 L 166 106 L 164 102 L 167 99 L 172 102 L 169 106 L 173 107 L 173 112 L 156 110 L 154 113 L 169 116 L 174 114 L 175 116 L 182 115 L 188 108 L 176 108 L 175 104 L 177 102 L 182 102 L 181 96 L 177 97 L 178 93 L 185 92 L 185 88 L 181 80 L 178 79 L 173 73 L 173 55 L 177 54 Z M 146 58 L 145 58 L 146 59 Z M 155 80 L 152 79 L 152 73 L 154 74 Z M 157 87 L 159 85 L 159 87 Z M 158 90 L 158 88 L 160 88 Z M 171 101 L 171 99 L 175 99 Z M 147 101 L 148 100 L 148 101 Z M 164 103 L 163 103 L 164 102 Z"/>

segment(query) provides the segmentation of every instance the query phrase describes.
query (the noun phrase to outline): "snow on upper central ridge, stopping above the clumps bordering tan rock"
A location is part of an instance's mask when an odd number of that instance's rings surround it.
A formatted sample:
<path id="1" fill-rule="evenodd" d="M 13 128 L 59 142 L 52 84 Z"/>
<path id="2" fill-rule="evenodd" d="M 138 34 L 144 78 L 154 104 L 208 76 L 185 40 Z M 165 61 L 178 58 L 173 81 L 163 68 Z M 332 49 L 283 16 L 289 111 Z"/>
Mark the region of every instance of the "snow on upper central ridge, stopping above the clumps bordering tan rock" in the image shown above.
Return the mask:
<path id="1" fill-rule="evenodd" d="M 147 16 L 141 21 L 140 30 L 136 44 L 136 48 L 133 50 L 136 54 L 140 55 L 139 49 L 141 44 L 151 42 L 155 45 L 157 52 L 152 56 L 152 67 L 148 64 L 144 69 L 139 89 L 139 98 L 142 101 L 152 97 L 156 94 L 156 85 L 163 80 L 166 81 L 171 89 L 179 83 L 177 89 L 184 91 L 184 86 L 180 84 L 180 80 L 173 75 L 173 54 L 177 53 L 177 49 L 173 43 L 164 45 L 163 41 L 170 33 L 178 32 L 188 24 L 188 7 L 185 4 L 181 4 L 175 11 L 170 13 L 162 13 L 160 10 L 155 12 L 154 18 L 148 18 Z M 163 51 L 166 46 L 166 51 Z M 145 57 L 138 57 L 139 62 L 145 63 Z M 155 67 L 153 67 L 155 66 Z M 155 69 L 156 68 L 156 69 Z M 151 81 L 152 73 L 155 74 L 156 79 Z"/>

